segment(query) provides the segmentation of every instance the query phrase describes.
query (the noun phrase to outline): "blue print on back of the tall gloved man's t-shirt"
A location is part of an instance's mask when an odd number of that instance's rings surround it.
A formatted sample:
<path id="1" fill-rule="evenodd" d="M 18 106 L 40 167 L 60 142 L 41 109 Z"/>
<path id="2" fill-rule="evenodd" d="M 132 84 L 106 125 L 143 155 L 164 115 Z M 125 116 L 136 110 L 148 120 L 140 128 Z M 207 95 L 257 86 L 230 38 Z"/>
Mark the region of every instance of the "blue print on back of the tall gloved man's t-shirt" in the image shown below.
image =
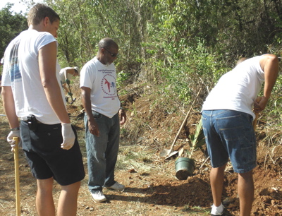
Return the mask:
<path id="1" fill-rule="evenodd" d="M 10 52 L 10 57 L 9 57 L 9 66 L 10 66 L 10 77 L 11 77 L 11 82 L 14 81 L 19 81 L 22 76 L 20 74 L 20 68 L 18 66 L 18 45 L 20 42 L 17 42 L 16 44 L 13 45 L 11 52 Z"/>

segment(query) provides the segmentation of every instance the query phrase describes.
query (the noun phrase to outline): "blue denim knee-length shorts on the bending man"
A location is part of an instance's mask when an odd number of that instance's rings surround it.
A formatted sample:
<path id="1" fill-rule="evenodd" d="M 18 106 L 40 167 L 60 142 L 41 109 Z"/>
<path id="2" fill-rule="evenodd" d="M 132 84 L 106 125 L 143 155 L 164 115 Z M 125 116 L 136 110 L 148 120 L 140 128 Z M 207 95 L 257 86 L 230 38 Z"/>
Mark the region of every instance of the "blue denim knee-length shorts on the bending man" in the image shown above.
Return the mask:
<path id="1" fill-rule="evenodd" d="M 202 126 L 212 167 L 222 167 L 228 158 L 237 173 L 256 167 L 256 138 L 250 114 L 227 109 L 204 110 Z"/>

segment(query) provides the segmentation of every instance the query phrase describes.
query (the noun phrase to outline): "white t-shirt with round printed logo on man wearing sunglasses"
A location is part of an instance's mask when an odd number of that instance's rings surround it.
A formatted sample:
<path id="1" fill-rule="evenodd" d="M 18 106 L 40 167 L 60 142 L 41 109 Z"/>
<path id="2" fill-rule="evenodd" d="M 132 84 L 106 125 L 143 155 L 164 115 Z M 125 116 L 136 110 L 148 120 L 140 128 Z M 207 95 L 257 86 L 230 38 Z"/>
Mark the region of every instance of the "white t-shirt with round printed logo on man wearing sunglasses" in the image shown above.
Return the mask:
<path id="1" fill-rule="evenodd" d="M 121 106 L 116 89 L 116 67 L 94 57 L 80 71 L 80 88 L 91 89 L 92 110 L 112 118 Z"/>

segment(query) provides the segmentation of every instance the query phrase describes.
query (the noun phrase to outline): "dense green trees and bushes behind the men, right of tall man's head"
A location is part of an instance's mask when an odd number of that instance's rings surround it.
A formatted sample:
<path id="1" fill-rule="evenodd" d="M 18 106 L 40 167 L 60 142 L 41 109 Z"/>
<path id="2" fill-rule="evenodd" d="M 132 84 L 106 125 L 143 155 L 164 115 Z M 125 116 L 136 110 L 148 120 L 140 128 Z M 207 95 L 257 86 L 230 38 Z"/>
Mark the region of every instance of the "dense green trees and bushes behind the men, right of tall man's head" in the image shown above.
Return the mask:
<path id="1" fill-rule="evenodd" d="M 102 37 L 121 47 L 123 80 L 140 77 L 188 100 L 191 76 L 212 80 L 240 56 L 281 51 L 280 0 L 47 0 L 61 16 L 61 60 L 84 64 Z M 212 78 L 212 79 L 211 79 Z M 124 82 L 123 82 L 124 83 Z M 189 85 L 188 85 L 189 88 Z"/>

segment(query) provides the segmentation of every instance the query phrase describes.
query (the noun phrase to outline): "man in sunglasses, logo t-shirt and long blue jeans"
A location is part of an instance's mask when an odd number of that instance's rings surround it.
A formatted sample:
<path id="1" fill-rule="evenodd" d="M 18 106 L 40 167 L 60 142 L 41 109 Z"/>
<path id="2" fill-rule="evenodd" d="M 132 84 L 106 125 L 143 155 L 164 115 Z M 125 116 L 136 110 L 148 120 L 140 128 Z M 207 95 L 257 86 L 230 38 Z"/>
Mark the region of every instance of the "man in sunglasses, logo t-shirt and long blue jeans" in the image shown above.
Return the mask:
<path id="1" fill-rule="evenodd" d="M 97 56 L 80 72 L 82 104 L 85 108 L 88 188 L 92 199 L 106 201 L 102 188 L 123 191 L 114 179 L 118 157 L 120 124 L 126 121 L 116 89 L 118 44 L 109 37 L 99 41 Z"/>

